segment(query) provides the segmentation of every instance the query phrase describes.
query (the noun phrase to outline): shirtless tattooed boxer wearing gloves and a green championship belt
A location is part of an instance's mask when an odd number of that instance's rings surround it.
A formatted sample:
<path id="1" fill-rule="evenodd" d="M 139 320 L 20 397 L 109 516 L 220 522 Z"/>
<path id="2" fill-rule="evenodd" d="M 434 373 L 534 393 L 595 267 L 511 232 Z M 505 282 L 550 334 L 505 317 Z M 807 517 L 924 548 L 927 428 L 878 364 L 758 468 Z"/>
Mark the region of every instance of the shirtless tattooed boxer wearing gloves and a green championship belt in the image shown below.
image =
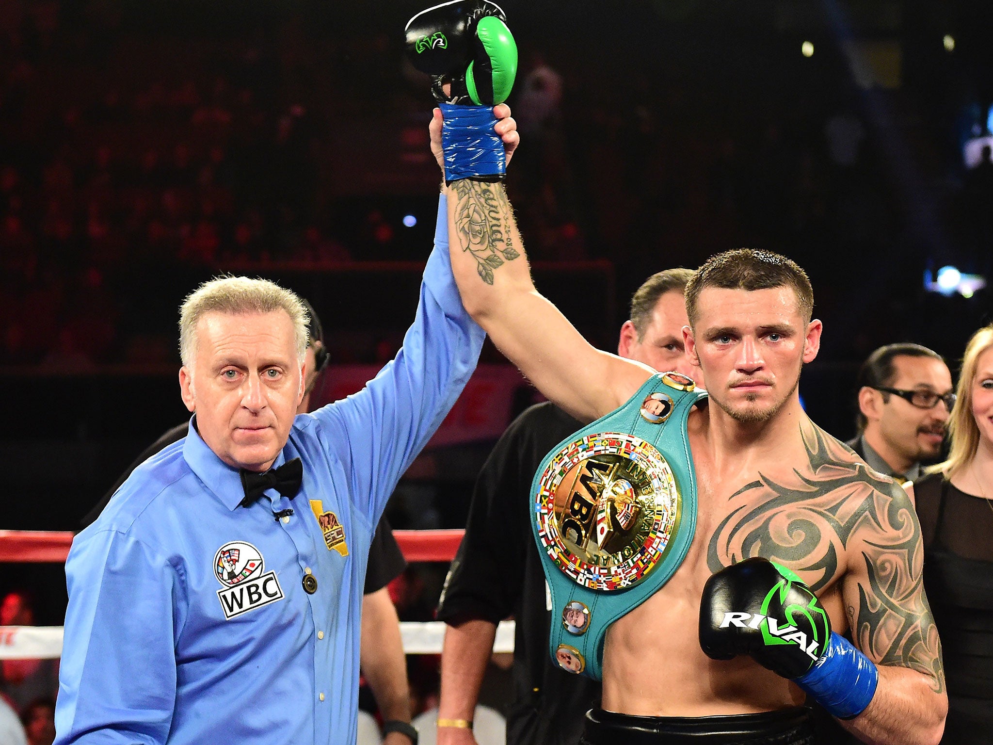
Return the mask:
<path id="1" fill-rule="evenodd" d="M 907 493 L 800 407 L 800 369 L 821 335 L 806 275 L 747 249 L 694 274 L 683 337 L 713 405 L 687 377 L 591 347 L 535 290 L 499 183 L 504 144 L 508 159 L 517 138 L 509 109 L 491 110 L 480 92 L 509 70 L 500 53 L 510 38 L 495 14 L 493 3 L 435 6 L 408 24 L 408 48 L 415 59 L 437 56 L 437 67 L 428 58 L 419 67 L 436 75 L 442 101 L 431 143 L 466 310 L 549 399 L 598 420 L 577 444 L 586 456 L 555 462 L 553 450 L 543 464 L 552 481 L 581 484 L 595 501 L 571 486 L 560 501 L 555 486 L 535 505 L 539 541 L 558 520 L 558 543 L 546 549 L 599 546 L 588 554 L 596 562 L 554 559 L 575 580 L 570 600 L 588 601 L 589 620 L 579 634 L 565 624 L 571 637 L 553 628 L 550 652 L 564 670 L 603 676 L 604 709 L 587 715 L 584 740 L 807 745 L 805 690 L 865 740 L 937 743 L 947 697 L 920 524 Z M 491 72 L 492 89 L 480 87 Z M 634 436 L 648 430 L 653 443 Z M 665 457 L 653 449 L 663 444 Z M 597 448 L 614 450 L 597 461 Z M 621 468 L 631 480 L 617 477 Z M 649 531 L 634 555 L 611 547 L 631 546 L 630 526 Z M 545 569 L 554 609 L 562 577 Z M 849 627 L 856 646 L 838 636 Z M 556 649 L 556 638 L 571 644 Z"/>

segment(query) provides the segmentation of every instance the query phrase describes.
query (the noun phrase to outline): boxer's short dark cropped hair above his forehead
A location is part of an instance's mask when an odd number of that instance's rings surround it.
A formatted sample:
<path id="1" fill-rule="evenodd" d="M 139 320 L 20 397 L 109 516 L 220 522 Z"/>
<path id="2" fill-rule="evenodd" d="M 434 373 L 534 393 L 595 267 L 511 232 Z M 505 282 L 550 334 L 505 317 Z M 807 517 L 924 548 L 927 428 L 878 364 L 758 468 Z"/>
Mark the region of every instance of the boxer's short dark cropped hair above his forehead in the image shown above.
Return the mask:
<path id="1" fill-rule="evenodd" d="M 686 283 L 686 315 L 690 326 L 699 317 L 698 303 L 705 287 L 726 290 L 791 287 L 796 293 L 800 315 L 807 322 L 813 315 L 813 288 L 806 272 L 795 261 L 773 251 L 736 248 L 708 258 Z"/>

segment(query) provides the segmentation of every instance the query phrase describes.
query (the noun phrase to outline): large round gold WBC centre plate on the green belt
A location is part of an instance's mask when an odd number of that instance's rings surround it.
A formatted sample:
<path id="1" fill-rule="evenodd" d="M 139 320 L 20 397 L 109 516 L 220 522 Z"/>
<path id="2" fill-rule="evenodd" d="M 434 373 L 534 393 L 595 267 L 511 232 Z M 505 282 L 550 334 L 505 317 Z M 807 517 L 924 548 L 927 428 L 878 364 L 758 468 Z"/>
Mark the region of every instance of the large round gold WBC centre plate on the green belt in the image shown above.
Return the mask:
<path id="1" fill-rule="evenodd" d="M 621 432 L 563 447 L 534 502 L 542 548 L 592 590 L 637 584 L 665 554 L 680 516 L 672 469 L 648 442 Z"/>

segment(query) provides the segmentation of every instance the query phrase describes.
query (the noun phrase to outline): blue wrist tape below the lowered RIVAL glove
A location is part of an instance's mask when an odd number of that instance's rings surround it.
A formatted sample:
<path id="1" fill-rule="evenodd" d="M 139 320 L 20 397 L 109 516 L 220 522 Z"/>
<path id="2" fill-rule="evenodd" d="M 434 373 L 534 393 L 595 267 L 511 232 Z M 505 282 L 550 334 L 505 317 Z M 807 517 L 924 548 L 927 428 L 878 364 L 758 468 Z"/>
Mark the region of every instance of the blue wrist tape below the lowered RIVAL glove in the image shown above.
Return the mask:
<path id="1" fill-rule="evenodd" d="M 861 714 L 876 693 L 879 671 L 844 637 L 831 632 L 827 650 L 813 668 L 793 679 L 839 719 Z"/>

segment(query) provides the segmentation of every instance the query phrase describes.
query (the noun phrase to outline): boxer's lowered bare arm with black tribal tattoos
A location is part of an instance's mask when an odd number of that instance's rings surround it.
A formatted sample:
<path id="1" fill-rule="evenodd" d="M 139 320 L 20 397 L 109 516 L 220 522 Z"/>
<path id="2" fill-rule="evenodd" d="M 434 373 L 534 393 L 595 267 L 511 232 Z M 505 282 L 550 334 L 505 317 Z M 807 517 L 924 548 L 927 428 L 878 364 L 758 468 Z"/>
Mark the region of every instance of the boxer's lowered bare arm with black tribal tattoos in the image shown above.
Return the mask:
<path id="1" fill-rule="evenodd" d="M 948 698 L 941 644 L 922 582 L 921 524 L 907 493 L 873 483 L 847 544 L 842 585 L 852 640 L 879 670 L 865 711 L 842 721 L 866 742 L 937 743 Z"/>

